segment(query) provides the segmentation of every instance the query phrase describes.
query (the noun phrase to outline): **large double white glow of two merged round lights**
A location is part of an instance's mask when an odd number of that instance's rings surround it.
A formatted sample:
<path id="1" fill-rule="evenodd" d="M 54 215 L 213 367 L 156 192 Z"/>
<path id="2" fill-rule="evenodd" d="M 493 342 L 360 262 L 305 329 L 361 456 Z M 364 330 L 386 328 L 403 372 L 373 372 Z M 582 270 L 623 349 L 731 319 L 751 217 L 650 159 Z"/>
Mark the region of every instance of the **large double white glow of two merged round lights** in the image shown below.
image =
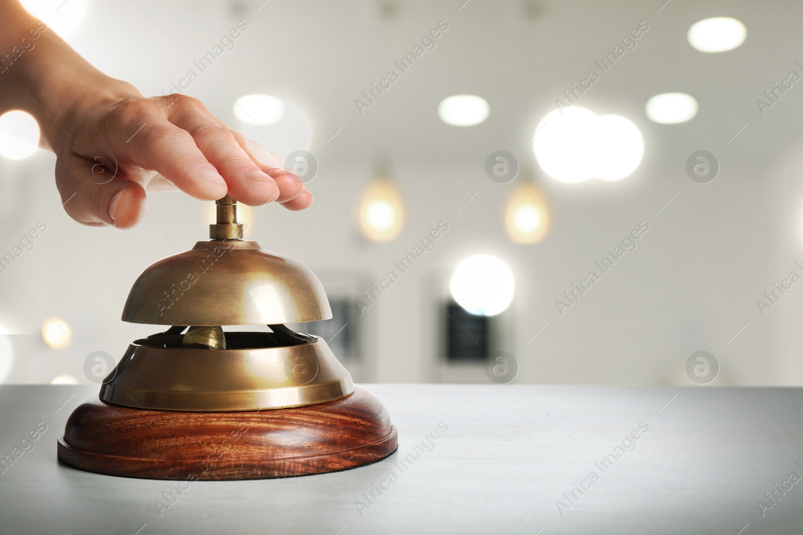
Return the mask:
<path id="1" fill-rule="evenodd" d="M 644 154 L 641 132 L 630 120 L 597 116 L 577 106 L 544 117 L 532 144 L 544 172 L 561 182 L 622 179 L 634 172 Z"/>

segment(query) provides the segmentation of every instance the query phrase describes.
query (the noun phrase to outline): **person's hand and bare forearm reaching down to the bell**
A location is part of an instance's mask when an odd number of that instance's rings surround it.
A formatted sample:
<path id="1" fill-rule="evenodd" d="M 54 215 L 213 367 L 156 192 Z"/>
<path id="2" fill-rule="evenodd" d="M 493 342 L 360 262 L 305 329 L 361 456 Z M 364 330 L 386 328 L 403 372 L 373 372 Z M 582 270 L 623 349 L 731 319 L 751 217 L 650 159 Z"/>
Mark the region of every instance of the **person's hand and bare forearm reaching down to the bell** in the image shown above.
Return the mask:
<path id="1" fill-rule="evenodd" d="M 18 51 L 0 73 L 0 113 L 35 116 L 40 145 L 56 155 L 64 210 L 79 223 L 132 227 L 145 211 L 145 192 L 165 184 L 210 201 L 228 193 L 247 205 L 312 204 L 279 156 L 234 132 L 198 99 L 146 99 L 92 67 L 19 2 L 0 0 L 0 50 Z"/>

